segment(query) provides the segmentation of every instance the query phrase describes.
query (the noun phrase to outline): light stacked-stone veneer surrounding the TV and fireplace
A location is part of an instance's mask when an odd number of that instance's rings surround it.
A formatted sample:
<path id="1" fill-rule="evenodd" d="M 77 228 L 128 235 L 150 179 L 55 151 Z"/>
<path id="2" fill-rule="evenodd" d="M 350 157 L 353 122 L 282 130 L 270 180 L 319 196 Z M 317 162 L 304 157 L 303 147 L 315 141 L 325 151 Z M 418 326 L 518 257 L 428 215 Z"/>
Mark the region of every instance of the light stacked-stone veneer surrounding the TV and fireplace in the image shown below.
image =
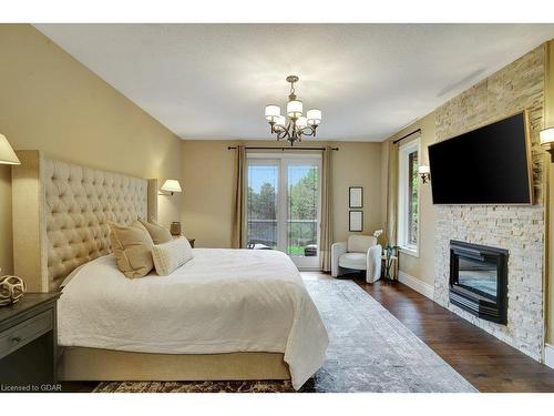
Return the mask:
<path id="1" fill-rule="evenodd" d="M 543 47 L 534 49 L 435 113 L 437 141 L 442 141 L 524 108 L 529 111 L 535 205 L 437 205 L 434 300 L 535 359 L 542 357 L 544 337 L 544 152 L 538 144 L 544 58 Z M 480 319 L 449 303 L 450 240 L 510 251 L 507 325 Z"/>

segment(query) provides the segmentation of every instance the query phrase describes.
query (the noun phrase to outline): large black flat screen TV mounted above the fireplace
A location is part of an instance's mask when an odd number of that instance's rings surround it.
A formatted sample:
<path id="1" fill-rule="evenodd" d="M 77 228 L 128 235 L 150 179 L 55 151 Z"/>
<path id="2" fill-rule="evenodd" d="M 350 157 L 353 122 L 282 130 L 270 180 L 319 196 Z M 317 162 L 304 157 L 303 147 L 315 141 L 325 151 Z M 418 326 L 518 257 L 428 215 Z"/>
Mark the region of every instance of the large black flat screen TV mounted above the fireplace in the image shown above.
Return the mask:
<path id="1" fill-rule="evenodd" d="M 429 146 L 433 204 L 532 204 L 526 113 Z"/>

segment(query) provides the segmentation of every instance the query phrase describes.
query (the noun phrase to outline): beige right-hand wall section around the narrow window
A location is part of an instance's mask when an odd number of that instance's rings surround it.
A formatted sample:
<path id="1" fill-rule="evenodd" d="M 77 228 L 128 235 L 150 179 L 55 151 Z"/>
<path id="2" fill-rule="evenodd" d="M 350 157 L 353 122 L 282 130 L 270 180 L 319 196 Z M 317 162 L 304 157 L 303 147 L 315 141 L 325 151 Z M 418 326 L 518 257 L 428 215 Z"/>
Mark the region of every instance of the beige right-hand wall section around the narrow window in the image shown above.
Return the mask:
<path id="1" fill-rule="evenodd" d="M 393 134 L 381 146 L 382 154 L 382 189 L 383 195 L 381 199 L 381 210 L 383 216 L 387 212 L 387 174 L 386 168 L 389 159 L 389 141 L 397 140 L 406 134 L 409 134 L 418 129 L 421 129 L 420 145 L 421 145 L 421 164 L 429 164 L 427 148 L 434 143 L 434 112 L 425 115 L 423 119 L 410 124 L 398 133 Z M 409 140 L 409 139 L 408 139 Z M 431 286 L 434 284 L 434 207 L 431 197 L 431 185 L 429 183 L 420 183 L 420 235 L 419 235 L 419 256 L 400 253 L 399 265 L 400 270 L 412 277 L 416 277 Z"/>

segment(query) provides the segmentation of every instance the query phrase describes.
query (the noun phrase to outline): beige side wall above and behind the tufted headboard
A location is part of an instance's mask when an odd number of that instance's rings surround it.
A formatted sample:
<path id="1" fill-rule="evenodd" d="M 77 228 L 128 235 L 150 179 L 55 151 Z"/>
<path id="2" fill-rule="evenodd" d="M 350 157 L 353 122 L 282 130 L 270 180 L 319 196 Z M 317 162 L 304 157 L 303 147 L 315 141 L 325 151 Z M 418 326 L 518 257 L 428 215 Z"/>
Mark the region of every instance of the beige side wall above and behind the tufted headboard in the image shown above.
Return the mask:
<path id="1" fill-rule="evenodd" d="M 13 149 L 142 177 L 179 179 L 181 141 L 29 24 L 0 24 L 0 132 Z M 12 271 L 11 170 L 0 165 L 0 266 Z M 177 221 L 182 195 L 160 196 Z"/>

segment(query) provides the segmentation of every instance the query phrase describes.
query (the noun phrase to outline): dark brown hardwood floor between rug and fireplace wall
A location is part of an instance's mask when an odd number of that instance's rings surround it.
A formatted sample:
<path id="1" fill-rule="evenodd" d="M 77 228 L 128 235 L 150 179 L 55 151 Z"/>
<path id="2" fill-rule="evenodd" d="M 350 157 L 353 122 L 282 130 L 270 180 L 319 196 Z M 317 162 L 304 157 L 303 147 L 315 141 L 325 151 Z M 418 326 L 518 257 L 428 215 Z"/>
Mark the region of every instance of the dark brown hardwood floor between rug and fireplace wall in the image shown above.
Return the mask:
<path id="1" fill-rule="evenodd" d="M 330 278 L 302 273 L 305 278 Z M 554 392 L 554 369 L 535 362 L 412 288 L 350 276 L 480 392 Z"/>

